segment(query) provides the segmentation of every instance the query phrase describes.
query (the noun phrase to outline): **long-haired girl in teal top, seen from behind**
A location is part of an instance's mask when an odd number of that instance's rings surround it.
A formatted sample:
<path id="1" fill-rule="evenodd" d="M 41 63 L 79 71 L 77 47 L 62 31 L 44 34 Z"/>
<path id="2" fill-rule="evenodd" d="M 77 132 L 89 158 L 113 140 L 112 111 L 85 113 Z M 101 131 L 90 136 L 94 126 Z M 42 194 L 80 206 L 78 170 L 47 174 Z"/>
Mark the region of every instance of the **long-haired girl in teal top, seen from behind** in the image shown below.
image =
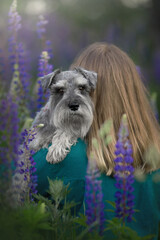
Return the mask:
<path id="1" fill-rule="evenodd" d="M 92 92 L 95 105 L 94 120 L 86 137 L 86 142 L 79 139 L 72 146 L 70 153 L 59 164 L 50 165 L 45 157 L 47 149 L 42 149 L 34 155 L 37 165 L 38 192 L 44 196 L 48 188 L 47 177 L 63 179 L 70 183 L 69 198 L 79 203 L 77 211 L 82 208 L 85 192 L 85 175 L 88 159 L 94 151 L 95 160 L 101 171 L 102 190 L 105 208 L 110 208 L 106 200 L 114 201 L 116 192 L 114 175 L 114 151 L 122 115 L 128 119 L 129 138 L 133 147 L 133 165 L 146 174 L 146 181 L 134 183 L 136 221 L 130 227 L 139 236 L 154 234 L 152 239 L 158 239 L 160 220 L 160 186 L 153 181 L 153 175 L 158 172 L 160 158 L 146 161 L 145 152 L 154 145 L 160 152 L 160 128 L 154 117 L 147 91 L 137 72 L 136 66 L 126 53 L 114 45 L 94 43 L 86 48 L 73 62 L 71 69 L 82 67 L 98 74 L 97 87 Z M 113 139 L 106 146 L 99 137 L 101 125 L 108 119 L 113 120 Z M 96 138 L 98 147 L 92 145 Z M 105 211 L 106 220 L 114 215 Z M 112 236 L 107 233 L 107 239 Z"/>

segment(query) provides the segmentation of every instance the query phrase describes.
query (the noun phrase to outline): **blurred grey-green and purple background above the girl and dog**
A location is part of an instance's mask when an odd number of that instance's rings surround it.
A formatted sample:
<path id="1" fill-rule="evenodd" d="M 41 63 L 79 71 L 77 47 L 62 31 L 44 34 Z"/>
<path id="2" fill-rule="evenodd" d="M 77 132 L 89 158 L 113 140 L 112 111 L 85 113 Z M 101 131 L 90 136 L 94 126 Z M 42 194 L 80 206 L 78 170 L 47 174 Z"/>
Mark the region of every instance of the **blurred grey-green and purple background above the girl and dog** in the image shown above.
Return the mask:
<path id="1" fill-rule="evenodd" d="M 8 12 L 12 0 L 0 1 L 0 74 L 9 78 Z M 41 41 L 37 22 L 48 21 L 54 68 L 67 69 L 76 55 L 95 41 L 119 46 L 134 60 L 160 109 L 160 0 L 18 0 L 22 28 L 18 32 L 28 56 L 31 81 L 36 81 Z"/>

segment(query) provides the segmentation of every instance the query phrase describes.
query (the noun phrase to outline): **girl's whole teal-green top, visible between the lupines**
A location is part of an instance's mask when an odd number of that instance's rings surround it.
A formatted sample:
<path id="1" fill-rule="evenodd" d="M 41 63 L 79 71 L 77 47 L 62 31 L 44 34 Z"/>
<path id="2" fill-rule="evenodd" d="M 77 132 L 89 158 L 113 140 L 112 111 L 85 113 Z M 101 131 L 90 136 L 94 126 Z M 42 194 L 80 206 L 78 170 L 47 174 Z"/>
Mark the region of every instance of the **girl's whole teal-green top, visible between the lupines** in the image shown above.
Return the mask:
<path id="1" fill-rule="evenodd" d="M 78 202 L 77 211 L 83 209 L 84 193 L 85 193 L 85 175 L 87 169 L 86 144 L 78 139 L 76 145 L 71 147 L 70 153 L 66 158 L 56 164 L 50 164 L 46 161 L 48 149 L 41 149 L 33 155 L 36 162 L 38 176 L 38 192 L 47 196 L 48 177 L 50 179 L 60 178 L 65 184 L 70 183 L 71 192 L 69 200 Z M 135 181 L 134 183 L 134 208 L 139 210 L 134 214 L 135 221 L 128 224 L 135 230 L 139 236 L 154 234 L 154 240 L 158 239 L 158 225 L 160 221 L 160 183 L 153 181 L 155 173 L 149 174 L 144 182 Z M 111 209 L 106 202 L 115 201 L 114 194 L 116 192 L 115 179 L 111 176 L 101 174 L 103 198 L 105 209 Z M 105 218 L 114 217 L 113 212 L 105 211 Z M 107 233 L 107 239 L 109 235 Z"/>

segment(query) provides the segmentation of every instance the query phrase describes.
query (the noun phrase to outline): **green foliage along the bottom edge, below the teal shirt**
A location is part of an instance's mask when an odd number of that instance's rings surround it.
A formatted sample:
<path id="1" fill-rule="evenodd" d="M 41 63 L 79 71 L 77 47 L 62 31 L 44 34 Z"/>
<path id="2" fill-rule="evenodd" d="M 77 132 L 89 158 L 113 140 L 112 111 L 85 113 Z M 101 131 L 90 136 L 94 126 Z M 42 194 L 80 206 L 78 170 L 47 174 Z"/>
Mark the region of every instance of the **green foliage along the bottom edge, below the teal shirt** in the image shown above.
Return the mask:
<path id="1" fill-rule="evenodd" d="M 154 236 L 140 237 L 135 231 L 113 218 L 106 221 L 103 236 L 96 231 L 99 224 L 95 221 L 88 226 L 86 216 L 74 213 L 74 202 L 67 201 L 69 184 L 61 180 L 49 179 L 49 198 L 35 195 L 35 202 L 24 203 L 18 208 L 11 208 L 1 201 L 0 239 L 1 240 L 150 240 Z M 38 200 L 38 202 L 36 202 Z M 114 211 L 115 203 L 107 201 Z M 4 205 L 2 205 L 4 204 Z M 93 228 L 94 227 L 94 228 Z M 91 231 L 91 229 L 94 229 Z"/>

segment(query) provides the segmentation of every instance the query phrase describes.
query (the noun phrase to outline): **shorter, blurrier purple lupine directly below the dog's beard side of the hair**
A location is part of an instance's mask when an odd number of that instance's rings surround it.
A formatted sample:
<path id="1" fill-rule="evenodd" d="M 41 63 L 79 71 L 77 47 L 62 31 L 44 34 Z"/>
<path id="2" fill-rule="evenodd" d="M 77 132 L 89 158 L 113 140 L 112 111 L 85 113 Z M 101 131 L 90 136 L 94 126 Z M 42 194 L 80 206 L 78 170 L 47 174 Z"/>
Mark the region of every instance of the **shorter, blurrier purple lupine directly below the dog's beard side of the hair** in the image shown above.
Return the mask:
<path id="1" fill-rule="evenodd" d="M 91 225 L 98 221 L 99 234 L 103 234 L 104 230 L 104 203 L 100 173 L 97 167 L 89 164 L 86 175 L 86 189 L 85 189 L 85 215 L 87 217 L 87 224 Z M 91 229 L 92 230 L 92 229 Z"/>

